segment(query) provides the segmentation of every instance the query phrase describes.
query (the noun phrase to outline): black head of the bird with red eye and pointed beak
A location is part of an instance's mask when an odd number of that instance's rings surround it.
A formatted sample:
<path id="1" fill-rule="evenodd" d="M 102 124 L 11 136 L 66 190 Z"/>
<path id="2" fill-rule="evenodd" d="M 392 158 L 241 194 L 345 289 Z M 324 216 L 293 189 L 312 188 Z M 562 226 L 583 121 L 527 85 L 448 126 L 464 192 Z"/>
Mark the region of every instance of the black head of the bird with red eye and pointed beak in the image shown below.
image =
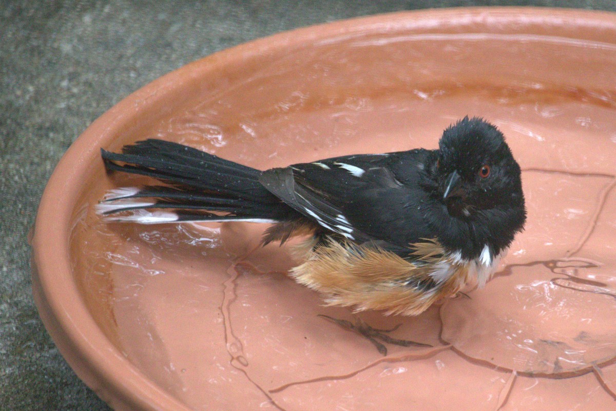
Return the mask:
<path id="1" fill-rule="evenodd" d="M 526 219 L 520 166 L 495 126 L 465 117 L 440 138 L 432 165 L 437 196 L 452 218 L 472 225 L 478 242 L 498 253 Z"/>

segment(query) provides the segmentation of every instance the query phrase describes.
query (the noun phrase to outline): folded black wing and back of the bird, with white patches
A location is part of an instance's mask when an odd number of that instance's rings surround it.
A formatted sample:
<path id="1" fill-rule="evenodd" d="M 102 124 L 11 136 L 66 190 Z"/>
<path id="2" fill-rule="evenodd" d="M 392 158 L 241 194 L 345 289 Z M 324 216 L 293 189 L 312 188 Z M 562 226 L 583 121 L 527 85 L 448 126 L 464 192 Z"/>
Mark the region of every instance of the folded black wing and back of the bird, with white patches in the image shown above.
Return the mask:
<path id="1" fill-rule="evenodd" d="M 396 253 L 429 237 L 421 218 L 428 193 L 420 185 L 432 153 L 360 154 L 294 164 L 262 173 L 271 193 L 323 228 Z"/>

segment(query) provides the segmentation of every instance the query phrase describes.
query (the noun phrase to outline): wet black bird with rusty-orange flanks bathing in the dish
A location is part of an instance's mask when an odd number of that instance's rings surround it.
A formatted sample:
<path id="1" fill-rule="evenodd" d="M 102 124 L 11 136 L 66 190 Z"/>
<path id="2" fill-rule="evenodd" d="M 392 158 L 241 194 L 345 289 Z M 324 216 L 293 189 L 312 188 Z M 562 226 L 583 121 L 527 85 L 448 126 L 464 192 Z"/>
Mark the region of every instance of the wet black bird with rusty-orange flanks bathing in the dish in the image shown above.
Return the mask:
<path id="1" fill-rule="evenodd" d="M 524 229 L 521 169 L 502 132 L 466 116 L 435 150 L 353 154 L 269 170 L 147 139 L 101 149 L 108 172 L 153 185 L 108 191 L 108 222 L 267 223 L 262 244 L 300 236 L 290 269 L 326 305 L 416 316 L 482 287 Z"/>

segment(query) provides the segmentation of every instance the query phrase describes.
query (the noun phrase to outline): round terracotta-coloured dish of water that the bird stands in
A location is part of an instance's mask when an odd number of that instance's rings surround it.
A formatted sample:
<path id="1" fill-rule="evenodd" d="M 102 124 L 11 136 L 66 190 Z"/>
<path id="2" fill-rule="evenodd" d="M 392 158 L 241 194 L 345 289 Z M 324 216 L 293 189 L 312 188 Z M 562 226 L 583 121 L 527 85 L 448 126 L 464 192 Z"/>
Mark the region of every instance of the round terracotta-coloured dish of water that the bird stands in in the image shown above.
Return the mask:
<path id="1" fill-rule="evenodd" d="M 278 34 L 153 82 L 49 182 L 33 240 L 47 329 L 118 410 L 614 407 L 615 39 L 611 14 L 431 10 Z M 323 306 L 286 277 L 290 247 L 258 247 L 262 225 L 93 211 L 147 182 L 106 176 L 101 146 L 156 137 L 265 169 L 436 148 L 466 114 L 508 138 L 528 223 L 484 289 L 418 317 Z M 379 346 L 325 316 L 391 331 Z"/>

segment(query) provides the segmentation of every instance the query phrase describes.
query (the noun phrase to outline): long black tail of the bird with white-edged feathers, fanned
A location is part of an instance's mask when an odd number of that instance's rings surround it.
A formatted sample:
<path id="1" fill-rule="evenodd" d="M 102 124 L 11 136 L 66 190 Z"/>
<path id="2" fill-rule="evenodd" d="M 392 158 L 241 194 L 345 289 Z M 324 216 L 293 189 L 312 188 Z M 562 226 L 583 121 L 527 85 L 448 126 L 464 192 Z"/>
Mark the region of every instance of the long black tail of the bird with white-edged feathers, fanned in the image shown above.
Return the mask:
<path id="1" fill-rule="evenodd" d="M 261 171 L 163 140 L 101 150 L 108 170 L 156 178 L 167 185 L 109 191 L 97 205 L 108 221 L 287 221 L 295 212 L 259 183 Z"/>

